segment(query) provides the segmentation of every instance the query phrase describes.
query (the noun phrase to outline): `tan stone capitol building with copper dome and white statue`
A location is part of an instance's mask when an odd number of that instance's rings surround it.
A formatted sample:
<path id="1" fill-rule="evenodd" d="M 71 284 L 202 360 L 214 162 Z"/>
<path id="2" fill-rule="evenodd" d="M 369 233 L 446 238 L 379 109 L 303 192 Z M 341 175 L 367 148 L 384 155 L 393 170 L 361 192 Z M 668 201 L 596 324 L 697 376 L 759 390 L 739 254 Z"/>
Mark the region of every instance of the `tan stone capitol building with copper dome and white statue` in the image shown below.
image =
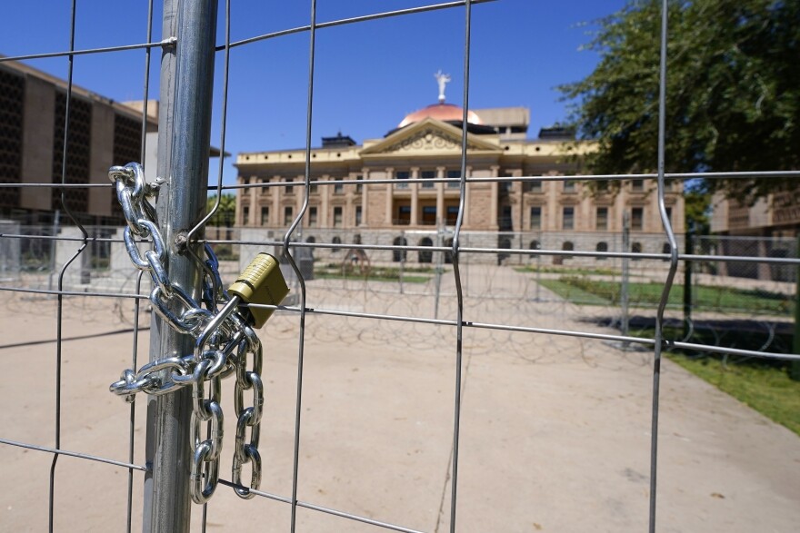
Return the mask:
<path id="1" fill-rule="evenodd" d="M 350 242 L 447 245 L 460 200 L 464 110 L 445 103 L 442 93 L 437 103 L 402 117 L 381 138 L 359 144 L 338 133 L 311 149 L 311 181 L 317 183 L 308 191 L 300 239 L 344 248 Z M 559 249 L 611 251 L 609 242 L 622 232 L 627 212 L 634 251 L 663 251 L 655 182 L 630 180 L 607 193 L 589 193 L 579 180 L 469 182 L 582 173 L 581 156 L 591 143 L 575 142 L 574 134 L 561 128 L 542 129 L 538 138 L 529 139 L 529 123 L 530 112 L 523 107 L 468 112 L 462 227 L 471 237 L 468 245 L 538 248 L 547 234 L 557 235 L 550 241 Z M 250 185 L 237 189 L 236 196 L 235 220 L 243 239 L 278 238 L 303 206 L 305 149 L 239 153 L 235 166 L 238 183 Z M 677 233 L 684 232 L 681 192 L 680 183 L 674 183 L 666 194 Z M 398 260 L 398 253 L 387 253 L 392 257 L 386 261 Z M 429 253 L 407 256 L 419 262 L 429 258 Z"/>

